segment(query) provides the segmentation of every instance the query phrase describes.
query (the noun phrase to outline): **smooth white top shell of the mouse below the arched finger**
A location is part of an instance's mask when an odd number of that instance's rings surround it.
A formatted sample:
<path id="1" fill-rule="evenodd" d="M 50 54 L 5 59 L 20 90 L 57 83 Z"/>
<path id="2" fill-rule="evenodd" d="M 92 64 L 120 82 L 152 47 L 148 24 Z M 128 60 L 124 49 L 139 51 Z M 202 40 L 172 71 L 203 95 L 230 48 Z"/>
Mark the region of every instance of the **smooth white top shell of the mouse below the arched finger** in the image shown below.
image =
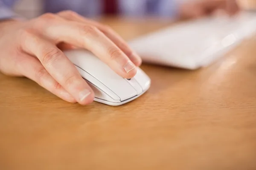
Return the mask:
<path id="1" fill-rule="evenodd" d="M 70 50 L 64 53 L 76 66 L 105 85 L 106 88 L 102 89 L 102 91 L 106 91 L 107 88 L 110 89 L 114 94 L 119 96 L 121 101 L 137 95 L 137 91 L 124 78 L 116 74 L 108 65 L 90 52 L 85 50 Z M 94 82 L 92 83 L 94 84 Z"/>

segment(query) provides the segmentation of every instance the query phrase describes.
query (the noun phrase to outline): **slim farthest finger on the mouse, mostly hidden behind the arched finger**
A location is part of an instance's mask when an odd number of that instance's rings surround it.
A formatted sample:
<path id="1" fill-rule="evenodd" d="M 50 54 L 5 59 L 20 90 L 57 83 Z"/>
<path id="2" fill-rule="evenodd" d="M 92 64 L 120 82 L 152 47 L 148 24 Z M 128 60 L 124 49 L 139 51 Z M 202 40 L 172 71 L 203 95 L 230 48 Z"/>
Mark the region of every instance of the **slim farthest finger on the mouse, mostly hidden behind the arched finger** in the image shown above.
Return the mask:
<path id="1" fill-rule="evenodd" d="M 131 61 L 136 66 L 141 65 L 142 59 L 128 46 L 125 40 L 123 40 L 122 37 L 120 37 L 110 27 L 104 26 L 93 20 L 86 19 L 73 11 L 62 11 L 62 12 L 59 12 L 58 15 L 63 17 L 66 20 L 72 20 L 72 21 L 95 26 L 100 31 L 102 31 L 110 40 L 112 40 L 131 59 Z"/>

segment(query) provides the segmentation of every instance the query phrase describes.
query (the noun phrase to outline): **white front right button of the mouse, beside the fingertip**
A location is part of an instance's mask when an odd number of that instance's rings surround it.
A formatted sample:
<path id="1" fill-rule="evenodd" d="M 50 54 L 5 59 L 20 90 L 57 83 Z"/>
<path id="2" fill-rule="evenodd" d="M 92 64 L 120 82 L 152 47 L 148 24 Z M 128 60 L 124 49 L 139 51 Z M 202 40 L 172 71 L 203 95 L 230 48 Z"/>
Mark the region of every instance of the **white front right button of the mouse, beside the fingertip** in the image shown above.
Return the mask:
<path id="1" fill-rule="evenodd" d="M 134 79 L 136 79 L 136 81 L 140 84 L 143 91 L 147 90 L 151 84 L 151 79 L 140 68 L 138 68 Z"/>

